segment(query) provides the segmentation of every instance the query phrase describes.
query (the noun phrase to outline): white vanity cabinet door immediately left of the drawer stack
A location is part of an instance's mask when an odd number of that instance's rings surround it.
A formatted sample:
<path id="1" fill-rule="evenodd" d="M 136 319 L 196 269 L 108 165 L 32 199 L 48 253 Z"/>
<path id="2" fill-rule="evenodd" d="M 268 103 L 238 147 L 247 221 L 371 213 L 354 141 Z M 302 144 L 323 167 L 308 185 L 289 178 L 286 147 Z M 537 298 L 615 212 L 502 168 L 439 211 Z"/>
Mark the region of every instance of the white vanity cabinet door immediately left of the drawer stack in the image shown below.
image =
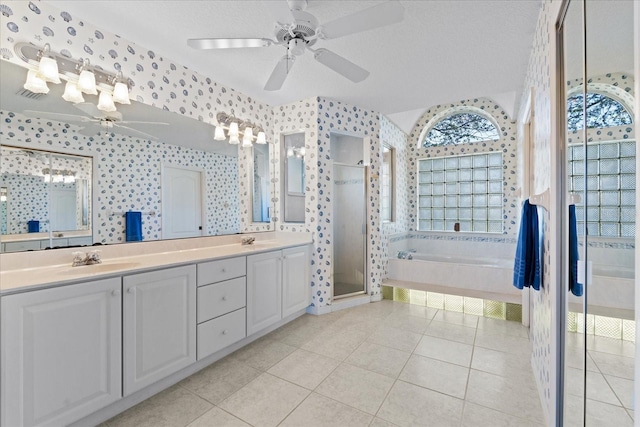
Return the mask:
<path id="1" fill-rule="evenodd" d="M 196 361 L 196 267 L 124 277 L 124 394 Z"/>

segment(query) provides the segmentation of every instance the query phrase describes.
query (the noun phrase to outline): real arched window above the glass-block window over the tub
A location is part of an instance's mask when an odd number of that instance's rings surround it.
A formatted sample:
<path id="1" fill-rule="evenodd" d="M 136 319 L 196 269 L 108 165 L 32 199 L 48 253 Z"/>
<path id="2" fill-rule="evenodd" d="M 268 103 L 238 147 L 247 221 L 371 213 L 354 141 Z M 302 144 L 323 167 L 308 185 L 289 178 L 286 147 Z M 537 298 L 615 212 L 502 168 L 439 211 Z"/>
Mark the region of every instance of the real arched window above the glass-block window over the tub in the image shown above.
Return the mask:
<path id="1" fill-rule="evenodd" d="M 434 124 L 422 145 L 434 147 L 498 139 L 500 133 L 489 119 L 480 114 L 463 112 L 449 115 Z"/>

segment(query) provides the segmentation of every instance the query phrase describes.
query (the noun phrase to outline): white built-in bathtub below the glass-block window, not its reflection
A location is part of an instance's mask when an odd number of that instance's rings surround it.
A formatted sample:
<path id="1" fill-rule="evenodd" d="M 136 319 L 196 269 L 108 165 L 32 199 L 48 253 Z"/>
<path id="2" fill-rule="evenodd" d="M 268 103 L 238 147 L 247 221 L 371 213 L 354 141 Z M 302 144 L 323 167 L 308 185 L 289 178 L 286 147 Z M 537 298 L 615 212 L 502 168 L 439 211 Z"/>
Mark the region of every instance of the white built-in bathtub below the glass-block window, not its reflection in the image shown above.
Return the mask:
<path id="1" fill-rule="evenodd" d="M 389 259 L 388 286 L 522 303 L 513 286 L 513 260 L 407 252 L 412 259 Z"/>

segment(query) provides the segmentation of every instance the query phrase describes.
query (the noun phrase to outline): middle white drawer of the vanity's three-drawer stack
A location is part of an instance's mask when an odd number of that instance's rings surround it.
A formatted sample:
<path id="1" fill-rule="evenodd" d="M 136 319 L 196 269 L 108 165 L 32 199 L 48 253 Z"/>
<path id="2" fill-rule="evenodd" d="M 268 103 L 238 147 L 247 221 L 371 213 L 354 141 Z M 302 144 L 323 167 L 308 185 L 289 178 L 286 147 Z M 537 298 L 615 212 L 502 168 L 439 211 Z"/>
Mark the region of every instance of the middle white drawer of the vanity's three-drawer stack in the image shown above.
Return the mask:
<path id="1" fill-rule="evenodd" d="M 198 323 L 230 313 L 246 305 L 247 279 L 238 277 L 198 288 Z"/>

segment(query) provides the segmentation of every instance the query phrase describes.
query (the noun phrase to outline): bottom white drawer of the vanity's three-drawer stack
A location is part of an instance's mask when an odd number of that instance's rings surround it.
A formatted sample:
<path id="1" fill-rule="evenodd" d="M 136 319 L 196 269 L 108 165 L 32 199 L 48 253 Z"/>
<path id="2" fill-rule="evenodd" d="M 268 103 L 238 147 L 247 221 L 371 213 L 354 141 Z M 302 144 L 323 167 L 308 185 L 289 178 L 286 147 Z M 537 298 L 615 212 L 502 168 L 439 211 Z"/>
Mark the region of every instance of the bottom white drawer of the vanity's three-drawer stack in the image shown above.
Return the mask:
<path id="1" fill-rule="evenodd" d="M 198 359 L 240 341 L 246 334 L 244 308 L 198 325 Z"/>

